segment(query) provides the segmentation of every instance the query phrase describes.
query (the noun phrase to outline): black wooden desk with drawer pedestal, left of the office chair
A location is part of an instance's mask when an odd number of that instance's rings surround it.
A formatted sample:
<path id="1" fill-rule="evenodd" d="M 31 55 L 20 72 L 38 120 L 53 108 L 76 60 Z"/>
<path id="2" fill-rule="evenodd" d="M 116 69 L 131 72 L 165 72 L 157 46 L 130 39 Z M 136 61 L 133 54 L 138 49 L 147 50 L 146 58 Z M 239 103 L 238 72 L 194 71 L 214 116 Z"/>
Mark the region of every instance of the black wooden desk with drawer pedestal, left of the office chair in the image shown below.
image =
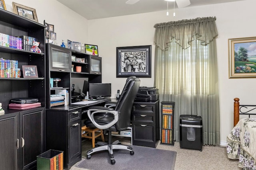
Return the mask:
<path id="1" fill-rule="evenodd" d="M 110 99 L 95 101 L 95 103 L 71 104 L 46 109 L 46 150 L 64 151 L 64 169 L 70 169 L 82 159 L 82 113 L 91 106 L 104 106 Z"/>

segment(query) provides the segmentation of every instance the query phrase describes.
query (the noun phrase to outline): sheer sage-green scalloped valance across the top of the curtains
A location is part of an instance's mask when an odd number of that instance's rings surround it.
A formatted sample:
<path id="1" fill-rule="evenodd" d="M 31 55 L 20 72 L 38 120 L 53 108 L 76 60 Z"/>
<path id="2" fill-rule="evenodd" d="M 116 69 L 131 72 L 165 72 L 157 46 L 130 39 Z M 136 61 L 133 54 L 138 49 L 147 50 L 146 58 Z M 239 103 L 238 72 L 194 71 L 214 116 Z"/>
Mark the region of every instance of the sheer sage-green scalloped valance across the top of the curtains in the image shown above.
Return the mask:
<path id="1" fill-rule="evenodd" d="M 183 49 L 190 47 L 195 35 L 202 45 L 209 44 L 217 37 L 216 17 L 204 17 L 190 20 L 170 21 L 154 25 L 154 45 L 167 50 L 169 42 L 175 38 Z"/>

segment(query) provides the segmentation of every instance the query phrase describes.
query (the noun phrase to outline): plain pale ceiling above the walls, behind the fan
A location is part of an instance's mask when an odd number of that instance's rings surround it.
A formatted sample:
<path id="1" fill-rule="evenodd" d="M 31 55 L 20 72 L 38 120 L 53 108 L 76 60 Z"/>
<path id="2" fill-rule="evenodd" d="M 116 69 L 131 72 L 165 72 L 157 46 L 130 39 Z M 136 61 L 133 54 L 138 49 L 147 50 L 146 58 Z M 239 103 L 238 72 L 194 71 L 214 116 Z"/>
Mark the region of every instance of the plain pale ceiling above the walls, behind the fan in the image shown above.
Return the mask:
<path id="1" fill-rule="evenodd" d="M 131 14 L 141 14 L 147 12 L 157 12 L 167 10 L 167 2 L 164 0 L 140 0 L 136 4 L 129 5 L 127 0 L 57 0 L 71 10 L 80 14 L 88 20 L 108 18 L 114 16 L 124 16 Z M 203 6 L 234 2 L 241 0 L 190 0 L 192 6 Z M 168 9 L 174 8 L 174 2 L 168 2 Z M 175 8 L 178 8 L 175 3 Z"/>

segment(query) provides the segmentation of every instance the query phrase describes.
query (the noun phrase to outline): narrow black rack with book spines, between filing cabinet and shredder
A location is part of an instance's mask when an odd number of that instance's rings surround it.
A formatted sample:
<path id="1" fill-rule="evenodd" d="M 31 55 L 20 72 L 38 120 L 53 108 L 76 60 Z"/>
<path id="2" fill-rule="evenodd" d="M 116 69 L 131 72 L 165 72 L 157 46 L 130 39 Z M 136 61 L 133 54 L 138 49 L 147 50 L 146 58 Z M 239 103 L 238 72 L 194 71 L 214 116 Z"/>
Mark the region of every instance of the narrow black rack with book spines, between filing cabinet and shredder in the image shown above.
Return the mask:
<path id="1" fill-rule="evenodd" d="M 175 102 L 161 102 L 161 144 L 174 145 L 174 106 Z"/>

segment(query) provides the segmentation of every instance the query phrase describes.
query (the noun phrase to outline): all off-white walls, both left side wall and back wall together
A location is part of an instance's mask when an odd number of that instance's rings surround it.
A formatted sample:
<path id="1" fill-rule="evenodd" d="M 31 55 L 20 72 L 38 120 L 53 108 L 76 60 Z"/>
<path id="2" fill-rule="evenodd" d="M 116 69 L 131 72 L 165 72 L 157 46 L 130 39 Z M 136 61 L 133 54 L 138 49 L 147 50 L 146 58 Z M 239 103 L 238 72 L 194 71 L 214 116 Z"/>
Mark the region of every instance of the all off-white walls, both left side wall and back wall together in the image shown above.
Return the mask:
<path id="1" fill-rule="evenodd" d="M 220 140 L 233 127 L 233 99 L 240 98 L 241 104 L 256 104 L 254 78 L 228 78 L 228 39 L 255 36 L 256 1 L 244 0 L 208 6 L 176 9 L 176 17 L 166 11 L 86 20 L 56 0 L 15 0 L 15 2 L 36 9 L 38 20 L 54 25 L 57 45 L 70 39 L 81 43 L 98 45 L 102 57 L 102 82 L 112 83 L 112 97 L 116 90 L 122 90 L 126 78 L 116 78 L 116 47 L 152 45 L 152 78 L 140 78 L 141 86 L 154 85 L 154 24 L 168 21 L 216 16 L 218 29 L 217 55 L 220 90 Z M 5 0 L 8 11 L 12 0 Z M 146 8 L 146 6 L 145 6 Z"/>

